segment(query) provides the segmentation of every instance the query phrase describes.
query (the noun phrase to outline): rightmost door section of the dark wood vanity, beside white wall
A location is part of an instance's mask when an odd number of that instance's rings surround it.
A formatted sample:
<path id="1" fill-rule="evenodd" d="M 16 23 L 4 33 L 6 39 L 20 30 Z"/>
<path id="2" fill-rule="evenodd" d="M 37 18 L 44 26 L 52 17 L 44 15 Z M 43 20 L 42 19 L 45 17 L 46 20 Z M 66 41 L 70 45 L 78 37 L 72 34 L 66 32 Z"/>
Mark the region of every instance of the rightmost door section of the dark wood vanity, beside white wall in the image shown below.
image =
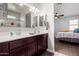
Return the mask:
<path id="1" fill-rule="evenodd" d="M 48 45 L 47 40 L 48 34 L 42 34 L 37 36 L 38 55 L 41 55 L 44 51 L 46 51 Z"/>

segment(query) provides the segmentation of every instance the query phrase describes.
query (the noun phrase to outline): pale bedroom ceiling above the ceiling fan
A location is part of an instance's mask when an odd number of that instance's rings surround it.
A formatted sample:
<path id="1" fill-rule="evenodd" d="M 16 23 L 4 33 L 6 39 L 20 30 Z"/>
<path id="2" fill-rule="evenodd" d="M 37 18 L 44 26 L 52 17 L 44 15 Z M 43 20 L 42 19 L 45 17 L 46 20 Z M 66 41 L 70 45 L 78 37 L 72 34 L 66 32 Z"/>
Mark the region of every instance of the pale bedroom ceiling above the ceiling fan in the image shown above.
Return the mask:
<path id="1" fill-rule="evenodd" d="M 64 14 L 64 17 L 79 15 L 79 3 L 54 4 L 54 12 Z"/>

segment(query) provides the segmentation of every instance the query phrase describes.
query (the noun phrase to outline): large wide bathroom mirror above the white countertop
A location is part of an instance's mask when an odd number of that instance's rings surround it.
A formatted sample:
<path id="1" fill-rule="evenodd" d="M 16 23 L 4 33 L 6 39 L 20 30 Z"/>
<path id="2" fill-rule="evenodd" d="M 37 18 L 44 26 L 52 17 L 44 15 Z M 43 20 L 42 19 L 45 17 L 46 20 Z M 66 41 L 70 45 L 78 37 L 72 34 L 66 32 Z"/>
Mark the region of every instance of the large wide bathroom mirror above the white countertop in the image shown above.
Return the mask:
<path id="1" fill-rule="evenodd" d="M 44 26 L 45 16 L 40 13 L 30 4 L 0 3 L 0 27 L 35 28 Z"/>

